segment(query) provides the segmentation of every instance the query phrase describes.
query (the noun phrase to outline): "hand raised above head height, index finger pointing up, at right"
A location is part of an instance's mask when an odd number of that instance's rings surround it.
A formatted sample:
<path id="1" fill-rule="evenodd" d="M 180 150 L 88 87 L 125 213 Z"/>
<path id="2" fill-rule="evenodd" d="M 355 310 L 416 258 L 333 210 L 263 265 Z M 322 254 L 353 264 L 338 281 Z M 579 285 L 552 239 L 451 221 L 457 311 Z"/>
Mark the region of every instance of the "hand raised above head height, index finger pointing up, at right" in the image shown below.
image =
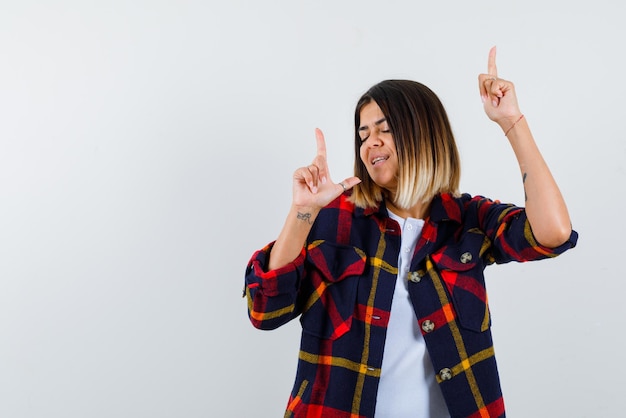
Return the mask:
<path id="1" fill-rule="evenodd" d="M 515 86 L 510 81 L 498 78 L 495 46 L 489 51 L 487 73 L 478 75 L 478 89 L 485 113 L 503 130 L 519 119 L 522 112 L 517 104 Z"/>

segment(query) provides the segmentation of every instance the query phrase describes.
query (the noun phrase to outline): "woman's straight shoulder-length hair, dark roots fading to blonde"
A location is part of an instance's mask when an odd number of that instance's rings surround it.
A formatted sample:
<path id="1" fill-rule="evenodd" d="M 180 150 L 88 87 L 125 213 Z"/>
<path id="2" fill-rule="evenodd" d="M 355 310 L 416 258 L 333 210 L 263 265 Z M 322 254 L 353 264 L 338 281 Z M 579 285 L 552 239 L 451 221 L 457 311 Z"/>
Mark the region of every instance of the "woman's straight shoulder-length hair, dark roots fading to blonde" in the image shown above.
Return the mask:
<path id="1" fill-rule="evenodd" d="M 376 102 L 387 119 L 398 154 L 395 195 L 370 178 L 360 158 L 361 110 Z M 459 152 L 443 104 L 425 85 L 409 80 L 386 80 L 361 96 L 354 114 L 354 175 L 362 181 L 350 200 L 359 207 L 377 207 L 383 198 L 409 209 L 428 204 L 440 193 L 458 194 L 461 178 Z"/>

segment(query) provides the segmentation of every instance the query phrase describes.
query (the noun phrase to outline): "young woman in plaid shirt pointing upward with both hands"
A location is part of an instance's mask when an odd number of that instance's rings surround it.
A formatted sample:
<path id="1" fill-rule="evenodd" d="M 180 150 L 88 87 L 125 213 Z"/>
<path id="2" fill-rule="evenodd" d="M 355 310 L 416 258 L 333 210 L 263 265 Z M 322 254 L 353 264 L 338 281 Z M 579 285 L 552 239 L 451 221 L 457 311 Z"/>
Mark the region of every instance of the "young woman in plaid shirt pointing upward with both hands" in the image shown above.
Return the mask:
<path id="1" fill-rule="evenodd" d="M 245 278 L 254 326 L 300 316 L 285 416 L 504 416 L 483 270 L 554 257 L 577 234 L 495 49 L 478 84 L 515 152 L 525 208 L 459 193 L 445 109 L 420 83 L 387 80 L 361 97 L 355 177 L 331 180 L 316 131 L 283 230 Z"/>

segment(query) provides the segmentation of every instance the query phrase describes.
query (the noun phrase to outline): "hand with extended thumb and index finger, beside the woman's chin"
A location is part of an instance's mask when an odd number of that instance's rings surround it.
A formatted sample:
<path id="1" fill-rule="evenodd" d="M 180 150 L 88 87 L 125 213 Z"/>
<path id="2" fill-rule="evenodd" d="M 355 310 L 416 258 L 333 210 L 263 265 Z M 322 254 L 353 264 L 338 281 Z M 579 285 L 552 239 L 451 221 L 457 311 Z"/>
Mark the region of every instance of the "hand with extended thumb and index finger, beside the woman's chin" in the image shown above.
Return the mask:
<path id="1" fill-rule="evenodd" d="M 319 211 L 344 191 L 359 184 L 358 177 L 348 177 L 333 183 L 326 161 L 326 142 L 320 129 L 315 129 L 317 155 L 313 162 L 298 168 L 293 174 L 293 205 L 297 208 Z"/>

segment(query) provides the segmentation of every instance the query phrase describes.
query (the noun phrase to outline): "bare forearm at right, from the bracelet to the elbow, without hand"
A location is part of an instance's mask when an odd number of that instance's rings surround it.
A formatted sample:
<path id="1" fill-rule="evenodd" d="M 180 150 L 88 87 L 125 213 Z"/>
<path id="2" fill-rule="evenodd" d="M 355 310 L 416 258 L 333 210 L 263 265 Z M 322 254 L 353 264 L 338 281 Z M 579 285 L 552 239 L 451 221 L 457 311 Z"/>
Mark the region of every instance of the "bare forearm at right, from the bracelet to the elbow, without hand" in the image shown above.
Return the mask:
<path id="1" fill-rule="evenodd" d="M 511 124 L 512 122 L 509 121 Z M 537 241 L 546 247 L 563 244 L 571 234 L 565 200 L 548 168 L 525 118 L 512 129 L 502 126 L 519 163 L 528 222 Z"/>

